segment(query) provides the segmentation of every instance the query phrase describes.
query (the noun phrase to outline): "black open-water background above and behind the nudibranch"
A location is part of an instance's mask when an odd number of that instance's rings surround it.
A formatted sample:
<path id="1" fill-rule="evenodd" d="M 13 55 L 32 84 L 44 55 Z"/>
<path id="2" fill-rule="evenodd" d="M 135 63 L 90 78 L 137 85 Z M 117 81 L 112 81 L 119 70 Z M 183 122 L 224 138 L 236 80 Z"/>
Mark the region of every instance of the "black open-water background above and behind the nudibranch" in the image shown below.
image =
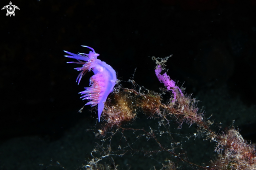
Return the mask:
<path id="1" fill-rule="evenodd" d="M 6 17 L 6 9 L 0 13 L 2 143 L 35 136 L 60 140 L 80 121 L 95 124 L 96 114 L 86 111 L 90 106 L 77 112 L 85 104 L 78 93 L 88 87 L 92 73 L 77 85 L 76 65 L 66 64 L 74 60 L 63 56 L 63 50 L 87 53 L 81 45 L 94 48 L 121 81 L 131 79 L 137 68 L 136 83 L 155 92 L 163 85 L 151 56 L 173 54 L 168 74 L 179 86 L 185 82 L 186 93 L 202 101 L 206 116 L 215 114 L 222 125 L 214 126 L 228 127 L 236 119 L 244 137 L 254 140 L 255 0 L 12 3 L 20 8 L 16 16 Z M 1 1 L 0 6 L 8 4 Z M 227 110 L 243 112 L 229 116 L 233 111 Z M 12 169 L 8 164 L 2 168 Z"/>

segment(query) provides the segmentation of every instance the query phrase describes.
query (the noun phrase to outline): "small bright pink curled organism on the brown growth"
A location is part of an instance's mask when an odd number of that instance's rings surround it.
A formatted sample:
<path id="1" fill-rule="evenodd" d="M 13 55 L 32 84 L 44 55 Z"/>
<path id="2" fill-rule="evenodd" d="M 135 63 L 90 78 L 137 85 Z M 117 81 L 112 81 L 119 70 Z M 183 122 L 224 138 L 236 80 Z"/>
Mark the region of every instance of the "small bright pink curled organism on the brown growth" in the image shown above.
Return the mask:
<path id="1" fill-rule="evenodd" d="M 172 102 L 174 102 L 176 100 L 176 92 L 175 89 L 179 89 L 181 96 L 183 96 L 183 93 L 180 89 L 180 87 L 175 86 L 175 82 L 173 80 L 171 80 L 170 76 L 166 74 L 166 72 L 161 75 L 161 71 L 162 71 L 162 67 L 161 65 L 157 66 L 157 69 L 154 70 L 155 71 L 155 75 L 157 75 L 158 80 L 164 84 L 164 86 L 168 89 L 171 90 L 173 93 L 173 99 Z"/>

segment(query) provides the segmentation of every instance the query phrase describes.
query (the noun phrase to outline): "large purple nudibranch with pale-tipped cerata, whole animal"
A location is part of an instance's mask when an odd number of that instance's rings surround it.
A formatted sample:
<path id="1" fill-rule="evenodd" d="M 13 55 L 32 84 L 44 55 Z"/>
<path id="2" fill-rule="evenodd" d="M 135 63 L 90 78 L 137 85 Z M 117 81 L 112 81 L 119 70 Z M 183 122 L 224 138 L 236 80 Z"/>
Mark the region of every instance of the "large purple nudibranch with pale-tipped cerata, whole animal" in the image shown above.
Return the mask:
<path id="1" fill-rule="evenodd" d="M 64 51 L 70 55 L 65 55 L 68 58 L 76 59 L 79 62 L 68 62 L 75 64 L 83 64 L 82 67 L 77 67 L 75 70 L 82 71 L 76 78 L 78 84 L 81 78 L 87 71 L 93 71 L 94 75 L 90 78 L 90 87 L 85 87 L 83 92 L 80 92 L 83 96 L 81 98 L 91 100 L 85 105 L 96 106 L 98 105 L 98 121 L 101 119 L 101 114 L 104 109 L 104 103 L 109 93 L 113 92 L 116 85 L 116 72 L 112 66 L 106 64 L 104 61 L 97 59 L 97 54 L 93 48 L 88 46 L 82 46 L 91 49 L 90 53 L 74 54 L 68 51 Z M 81 61 L 82 60 L 82 61 Z"/>

